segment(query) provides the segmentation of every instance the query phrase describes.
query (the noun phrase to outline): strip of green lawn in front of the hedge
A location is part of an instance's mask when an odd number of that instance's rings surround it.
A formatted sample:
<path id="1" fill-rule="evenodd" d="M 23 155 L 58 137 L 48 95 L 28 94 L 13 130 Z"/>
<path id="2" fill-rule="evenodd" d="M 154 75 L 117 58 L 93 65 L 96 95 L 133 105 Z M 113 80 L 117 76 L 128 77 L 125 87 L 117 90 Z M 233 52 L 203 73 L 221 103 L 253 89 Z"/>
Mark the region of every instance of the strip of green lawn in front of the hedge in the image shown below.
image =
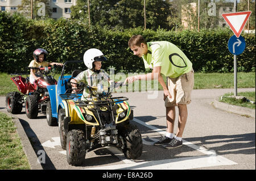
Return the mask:
<path id="1" fill-rule="evenodd" d="M 126 75 L 119 76 L 122 74 L 115 75 L 115 81 L 124 81 Z M 16 85 L 11 81 L 11 77 L 15 75 L 10 75 L 6 73 L 0 73 L 0 96 L 5 96 L 7 92 L 18 91 Z M 60 74 L 55 75 L 55 79 L 58 79 Z M 23 75 L 26 77 L 26 75 Z M 166 78 L 164 81 L 166 81 Z M 149 85 L 148 85 L 149 83 Z M 154 86 L 154 81 L 139 81 L 135 83 L 138 86 L 129 86 L 127 90 L 129 91 L 141 91 L 147 90 L 147 87 L 150 89 L 162 90 L 160 83 L 156 82 Z M 135 87 L 135 88 L 134 88 Z M 234 74 L 233 73 L 195 73 L 195 85 L 194 89 L 227 89 L 234 87 Z M 255 87 L 255 72 L 238 72 L 237 73 L 237 87 L 246 88 L 246 87 Z"/>

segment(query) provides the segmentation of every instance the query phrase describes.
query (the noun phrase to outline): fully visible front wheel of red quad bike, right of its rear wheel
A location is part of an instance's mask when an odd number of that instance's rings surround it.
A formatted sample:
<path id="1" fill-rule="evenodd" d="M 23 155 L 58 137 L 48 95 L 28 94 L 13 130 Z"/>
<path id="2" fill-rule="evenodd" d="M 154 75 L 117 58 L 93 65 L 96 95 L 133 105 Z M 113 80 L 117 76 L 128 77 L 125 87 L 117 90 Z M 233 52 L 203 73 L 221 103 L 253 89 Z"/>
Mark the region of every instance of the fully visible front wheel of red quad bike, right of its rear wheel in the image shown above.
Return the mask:
<path id="1" fill-rule="evenodd" d="M 29 119 L 38 117 L 38 99 L 32 94 L 28 95 L 25 102 L 26 115 Z"/>

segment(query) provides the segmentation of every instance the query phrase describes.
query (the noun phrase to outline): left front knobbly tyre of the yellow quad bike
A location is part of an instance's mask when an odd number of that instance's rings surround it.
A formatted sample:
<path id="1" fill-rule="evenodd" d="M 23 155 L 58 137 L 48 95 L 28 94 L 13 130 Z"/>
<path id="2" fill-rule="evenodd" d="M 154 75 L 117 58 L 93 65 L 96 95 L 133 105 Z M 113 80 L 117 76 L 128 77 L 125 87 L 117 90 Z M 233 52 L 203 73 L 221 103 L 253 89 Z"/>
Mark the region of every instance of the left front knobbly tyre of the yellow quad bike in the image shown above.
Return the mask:
<path id="1" fill-rule="evenodd" d="M 81 165 L 86 155 L 84 131 L 72 129 L 68 132 L 66 150 L 68 164 L 74 166 Z"/>

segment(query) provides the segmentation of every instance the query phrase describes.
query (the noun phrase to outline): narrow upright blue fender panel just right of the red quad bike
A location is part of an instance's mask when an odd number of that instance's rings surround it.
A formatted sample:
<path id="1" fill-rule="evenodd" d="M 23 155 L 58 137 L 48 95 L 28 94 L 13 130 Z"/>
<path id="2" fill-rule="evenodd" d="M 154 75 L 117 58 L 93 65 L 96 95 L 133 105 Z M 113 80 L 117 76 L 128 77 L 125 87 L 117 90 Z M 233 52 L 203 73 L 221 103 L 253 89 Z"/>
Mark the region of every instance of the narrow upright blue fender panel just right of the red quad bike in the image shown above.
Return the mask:
<path id="1" fill-rule="evenodd" d="M 51 101 L 51 108 L 52 108 L 52 117 L 58 117 L 58 112 L 57 112 L 57 92 L 56 92 L 56 85 L 49 85 L 47 86 L 47 90 L 49 92 L 49 98 Z"/>

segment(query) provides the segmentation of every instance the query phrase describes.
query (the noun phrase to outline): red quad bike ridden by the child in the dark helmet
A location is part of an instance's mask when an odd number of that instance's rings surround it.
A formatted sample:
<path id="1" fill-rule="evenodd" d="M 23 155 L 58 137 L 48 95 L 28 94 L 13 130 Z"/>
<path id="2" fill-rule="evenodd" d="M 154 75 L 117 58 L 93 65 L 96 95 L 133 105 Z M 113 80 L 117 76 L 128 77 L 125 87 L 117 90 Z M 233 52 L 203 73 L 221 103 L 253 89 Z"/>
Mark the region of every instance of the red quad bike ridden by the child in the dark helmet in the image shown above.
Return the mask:
<path id="1" fill-rule="evenodd" d="M 40 71 L 40 79 L 35 81 L 35 84 L 31 84 L 29 78 L 24 78 L 21 75 L 12 77 L 11 79 L 18 87 L 20 92 L 9 92 L 6 95 L 6 108 L 7 111 L 13 114 L 19 114 L 22 111 L 23 103 L 25 103 L 26 115 L 30 119 L 38 117 L 38 112 L 41 110 L 43 114 L 46 114 L 51 108 L 51 102 L 49 102 L 49 93 L 47 90 L 48 85 L 57 85 L 55 75 L 55 66 L 43 67 L 43 68 L 29 68 Z M 28 92 L 28 94 L 27 94 Z M 48 105 L 49 104 L 49 105 Z M 47 119 L 48 121 L 48 119 Z M 51 119 L 52 125 L 57 120 Z"/>

